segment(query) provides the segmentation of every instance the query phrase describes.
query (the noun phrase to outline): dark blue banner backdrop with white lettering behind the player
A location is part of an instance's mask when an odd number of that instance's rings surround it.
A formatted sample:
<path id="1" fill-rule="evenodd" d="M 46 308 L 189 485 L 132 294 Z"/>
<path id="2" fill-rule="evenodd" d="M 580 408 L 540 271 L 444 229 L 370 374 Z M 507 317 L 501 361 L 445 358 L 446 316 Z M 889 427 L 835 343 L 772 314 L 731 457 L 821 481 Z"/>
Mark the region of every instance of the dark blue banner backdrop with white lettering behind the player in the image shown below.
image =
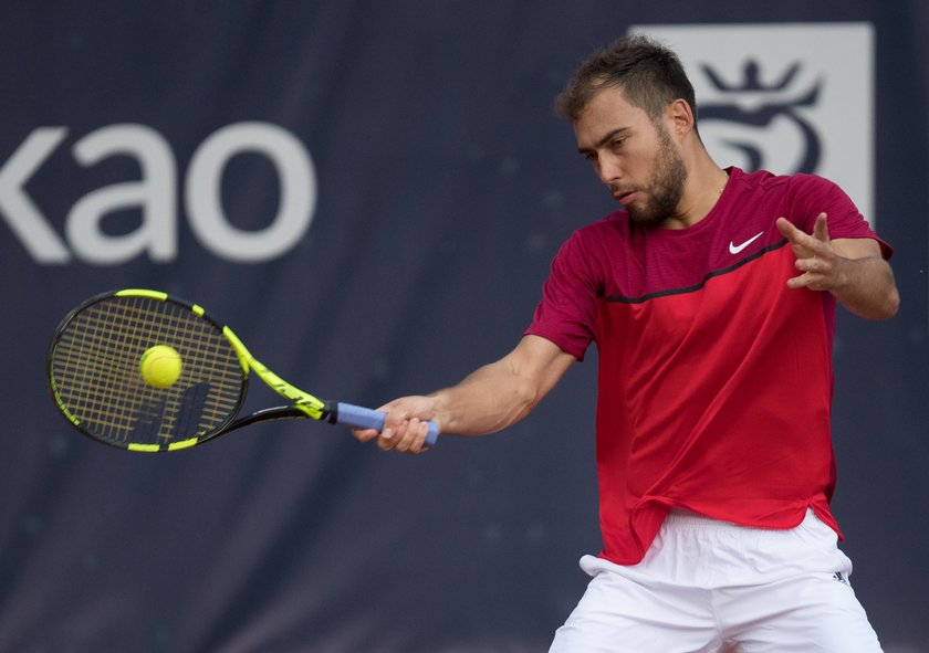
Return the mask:
<path id="1" fill-rule="evenodd" d="M 838 319 L 833 507 L 885 650 L 929 651 L 923 3 L 6 9 L 0 651 L 546 650 L 601 547 L 595 351 L 420 456 L 309 421 L 143 455 L 58 414 L 46 348 L 87 296 L 152 287 L 322 397 L 458 381 L 615 210 L 552 103 L 633 30 L 680 50 L 720 165 L 835 178 L 896 249 L 899 315 Z M 278 402 L 253 383 L 247 410 Z"/>

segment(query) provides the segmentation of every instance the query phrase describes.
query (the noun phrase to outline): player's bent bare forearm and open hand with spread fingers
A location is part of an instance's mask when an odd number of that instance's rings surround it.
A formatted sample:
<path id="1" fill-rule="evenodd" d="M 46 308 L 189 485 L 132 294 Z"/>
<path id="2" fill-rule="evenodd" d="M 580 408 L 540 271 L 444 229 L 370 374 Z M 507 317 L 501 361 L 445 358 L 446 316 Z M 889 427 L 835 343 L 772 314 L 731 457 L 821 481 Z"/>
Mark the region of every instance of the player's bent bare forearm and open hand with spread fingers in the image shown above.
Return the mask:
<path id="1" fill-rule="evenodd" d="M 787 287 L 828 291 L 849 313 L 867 319 L 887 319 L 897 313 L 900 295 L 894 271 L 877 241 L 831 240 L 825 213 L 816 218 L 812 235 L 784 218 L 777 219 L 777 230 L 790 242 L 801 272 L 787 281 Z"/>

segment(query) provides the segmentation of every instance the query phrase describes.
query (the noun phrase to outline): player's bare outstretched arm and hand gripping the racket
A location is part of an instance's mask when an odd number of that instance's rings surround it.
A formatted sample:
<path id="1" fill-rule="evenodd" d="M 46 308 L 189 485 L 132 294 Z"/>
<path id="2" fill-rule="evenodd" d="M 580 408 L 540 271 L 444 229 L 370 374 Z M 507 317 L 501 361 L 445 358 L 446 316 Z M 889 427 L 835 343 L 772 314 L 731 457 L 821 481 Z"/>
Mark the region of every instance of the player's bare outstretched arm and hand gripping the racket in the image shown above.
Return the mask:
<path id="1" fill-rule="evenodd" d="M 377 440 L 383 450 L 417 453 L 426 440 L 426 421 L 439 432 L 483 435 L 526 417 L 555 387 L 574 356 L 539 336 L 525 336 L 515 349 L 486 365 L 457 386 L 425 397 L 404 397 L 380 407 L 384 430 L 355 431 L 363 442 Z"/>

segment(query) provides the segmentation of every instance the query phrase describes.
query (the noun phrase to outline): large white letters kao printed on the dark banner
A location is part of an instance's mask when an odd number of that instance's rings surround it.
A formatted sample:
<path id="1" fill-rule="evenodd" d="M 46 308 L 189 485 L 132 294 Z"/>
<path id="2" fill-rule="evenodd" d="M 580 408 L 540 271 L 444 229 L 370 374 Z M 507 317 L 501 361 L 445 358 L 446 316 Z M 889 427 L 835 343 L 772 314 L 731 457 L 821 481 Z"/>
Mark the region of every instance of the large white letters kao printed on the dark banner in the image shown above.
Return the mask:
<path id="1" fill-rule="evenodd" d="M 170 146 L 146 125 L 109 125 L 83 136 L 74 160 L 91 167 L 113 156 L 131 156 L 142 178 L 94 189 L 67 213 L 64 234 L 52 227 L 27 186 L 67 137 L 66 127 L 39 127 L 0 167 L 0 221 L 6 221 L 32 259 L 62 265 L 75 259 L 91 265 L 119 265 L 147 256 L 170 263 L 178 256 L 178 194 L 197 240 L 220 259 L 261 263 L 293 249 L 310 229 L 316 207 L 316 172 L 310 152 L 290 131 L 267 123 L 236 123 L 211 134 L 194 152 L 179 188 L 178 166 Z M 268 158 L 280 182 L 278 212 L 259 231 L 230 224 L 222 207 L 221 183 L 227 164 L 243 152 Z M 138 209 L 140 224 L 113 235 L 102 225 L 111 213 Z"/>

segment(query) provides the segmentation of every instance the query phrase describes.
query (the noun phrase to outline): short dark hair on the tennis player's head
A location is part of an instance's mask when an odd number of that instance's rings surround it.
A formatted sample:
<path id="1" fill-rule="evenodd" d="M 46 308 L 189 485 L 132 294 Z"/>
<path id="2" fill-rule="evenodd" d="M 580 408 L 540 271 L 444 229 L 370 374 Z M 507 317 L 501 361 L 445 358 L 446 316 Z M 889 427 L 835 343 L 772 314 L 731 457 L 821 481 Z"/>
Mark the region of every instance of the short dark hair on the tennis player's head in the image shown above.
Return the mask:
<path id="1" fill-rule="evenodd" d="M 671 50 L 641 34 L 624 36 L 583 61 L 555 98 L 555 110 L 576 120 L 603 88 L 618 87 L 633 106 L 657 120 L 676 99 L 697 115 L 693 86 Z"/>

